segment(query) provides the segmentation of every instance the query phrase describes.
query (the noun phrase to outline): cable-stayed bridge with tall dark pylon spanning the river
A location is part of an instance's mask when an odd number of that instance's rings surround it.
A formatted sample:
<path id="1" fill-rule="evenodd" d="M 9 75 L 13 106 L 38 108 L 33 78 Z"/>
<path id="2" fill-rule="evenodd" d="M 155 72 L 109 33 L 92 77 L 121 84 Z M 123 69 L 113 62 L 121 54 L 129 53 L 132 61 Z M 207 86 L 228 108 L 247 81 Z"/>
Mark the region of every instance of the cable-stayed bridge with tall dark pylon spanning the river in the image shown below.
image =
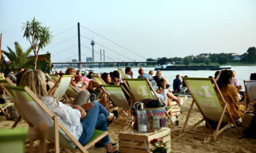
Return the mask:
<path id="1" fill-rule="evenodd" d="M 72 32 L 73 35 L 71 35 L 69 38 L 61 37 L 63 36 L 63 33 L 74 30 L 74 28 L 77 28 L 77 34 Z M 88 35 L 90 34 L 93 34 L 94 37 L 89 38 Z M 144 57 L 141 54 L 138 54 L 137 52 L 134 52 L 133 50 L 128 49 L 125 46 L 120 45 L 119 43 L 112 41 L 111 39 L 106 38 L 97 32 L 94 32 L 93 30 L 90 30 L 80 23 L 77 23 L 77 25 L 67 28 L 66 30 L 54 35 L 54 38 L 56 37 L 61 37 L 63 40 L 45 49 L 51 50 L 51 59 L 57 59 L 54 60 L 55 62 L 53 62 L 53 64 L 78 64 L 79 68 L 81 68 L 81 64 L 99 64 L 99 67 L 104 63 L 116 63 L 118 66 L 120 63 L 155 64 L 155 62 L 146 61 L 147 57 Z M 95 37 L 97 39 L 95 39 Z M 75 38 L 77 38 L 76 42 L 74 42 Z M 82 39 L 83 41 L 81 41 Z M 61 51 L 56 51 L 59 50 L 59 48 L 67 45 L 69 45 L 69 47 Z M 96 56 L 96 53 L 99 55 L 98 59 L 95 58 L 98 57 Z M 65 58 L 60 59 L 60 56 L 65 56 Z M 81 57 L 86 60 L 81 60 Z M 72 59 L 78 60 L 73 60 L 70 62 Z"/>

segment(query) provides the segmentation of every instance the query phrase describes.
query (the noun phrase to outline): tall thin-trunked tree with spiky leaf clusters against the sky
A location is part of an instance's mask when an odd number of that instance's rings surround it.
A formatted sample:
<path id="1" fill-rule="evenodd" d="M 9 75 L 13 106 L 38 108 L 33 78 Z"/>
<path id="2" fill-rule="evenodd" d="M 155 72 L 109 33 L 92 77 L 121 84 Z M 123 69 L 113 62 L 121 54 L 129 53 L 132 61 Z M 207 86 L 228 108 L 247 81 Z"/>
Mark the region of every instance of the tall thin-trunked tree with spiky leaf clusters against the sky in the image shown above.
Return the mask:
<path id="1" fill-rule="evenodd" d="M 31 19 L 24 23 L 22 30 L 24 30 L 23 37 L 29 40 L 31 48 L 33 49 L 35 56 L 35 69 L 37 68 L 37 57 L 40 49 L 45 48 L 49 43 L 51 43 L 51 32 L 49 32 L 49 27 L 42 26 L 37 20 Z"/>

